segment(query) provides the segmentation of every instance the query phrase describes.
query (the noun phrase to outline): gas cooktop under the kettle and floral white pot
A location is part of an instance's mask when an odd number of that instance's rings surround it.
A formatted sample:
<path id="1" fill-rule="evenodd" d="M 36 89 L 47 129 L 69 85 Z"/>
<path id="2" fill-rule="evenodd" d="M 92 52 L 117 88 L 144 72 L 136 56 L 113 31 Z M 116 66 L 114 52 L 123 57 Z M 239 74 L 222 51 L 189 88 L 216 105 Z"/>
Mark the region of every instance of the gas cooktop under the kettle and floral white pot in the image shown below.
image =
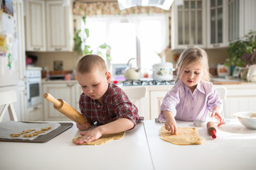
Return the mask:
<path id="1" fill-rule="evenodd" d="M 125 80 L 123 86 L 150 86 L 150 85 L 173 85 L 175 80 L 158 81 L 158 80 Z"/>

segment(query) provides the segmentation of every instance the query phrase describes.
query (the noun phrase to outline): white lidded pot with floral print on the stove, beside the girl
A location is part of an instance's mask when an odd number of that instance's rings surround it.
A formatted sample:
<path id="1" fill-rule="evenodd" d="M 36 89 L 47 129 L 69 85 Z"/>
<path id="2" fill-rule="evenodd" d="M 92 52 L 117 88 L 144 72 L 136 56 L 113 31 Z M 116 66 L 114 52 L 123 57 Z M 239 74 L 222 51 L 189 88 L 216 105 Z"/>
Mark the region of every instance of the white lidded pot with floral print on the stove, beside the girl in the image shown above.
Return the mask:
<path id="1" fill-rule="evenodd" d="M 174 78 L 174 64 L 171 62 L 163 62 L 153 65 L 153 79 L 157 81 L 172 80 Z"/>

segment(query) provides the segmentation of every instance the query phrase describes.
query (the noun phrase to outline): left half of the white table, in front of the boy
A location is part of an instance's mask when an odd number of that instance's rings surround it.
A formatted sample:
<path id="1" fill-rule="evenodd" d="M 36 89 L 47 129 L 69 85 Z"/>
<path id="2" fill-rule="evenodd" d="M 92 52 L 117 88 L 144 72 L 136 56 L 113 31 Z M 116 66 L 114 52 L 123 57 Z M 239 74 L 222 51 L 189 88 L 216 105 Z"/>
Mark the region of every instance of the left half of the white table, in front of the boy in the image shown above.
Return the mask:
<path id="1" fill-rule="evenodd" d="M 0 142 L 0 169 L 153 169 L 143 123 L 122 140 L 105 145 L 75 145 L 72 128 L 46 143 Z"/>

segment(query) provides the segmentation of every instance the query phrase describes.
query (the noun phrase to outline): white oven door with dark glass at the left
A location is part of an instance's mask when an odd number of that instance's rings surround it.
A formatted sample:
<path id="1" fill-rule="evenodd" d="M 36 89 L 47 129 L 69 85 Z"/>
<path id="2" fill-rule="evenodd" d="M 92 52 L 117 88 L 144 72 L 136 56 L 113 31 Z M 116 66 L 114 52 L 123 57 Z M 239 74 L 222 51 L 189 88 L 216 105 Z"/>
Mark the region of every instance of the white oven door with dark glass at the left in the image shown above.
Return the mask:
<path id="1" fill-rule="evenodd" d="M 41 79 L 27 79 L 27 107 L 42 103 Z"/>

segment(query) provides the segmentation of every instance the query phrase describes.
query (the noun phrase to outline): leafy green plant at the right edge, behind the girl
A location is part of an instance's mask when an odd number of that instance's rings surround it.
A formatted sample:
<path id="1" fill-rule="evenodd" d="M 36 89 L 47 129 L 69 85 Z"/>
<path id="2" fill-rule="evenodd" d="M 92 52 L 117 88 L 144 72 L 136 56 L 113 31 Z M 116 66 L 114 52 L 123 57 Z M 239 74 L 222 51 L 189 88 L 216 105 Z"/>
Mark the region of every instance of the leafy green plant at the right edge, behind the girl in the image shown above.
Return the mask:
<path id="1" fill-rule="evenodd" d="M 245 38 L 230 42 L 229 58 L 225 60 L 226 67 L 240 67 L 241 79 L 246 79 L 248 67 L 256 64 L 254 49 L 256 49 L 256 32 L 250 31 Z"/>

